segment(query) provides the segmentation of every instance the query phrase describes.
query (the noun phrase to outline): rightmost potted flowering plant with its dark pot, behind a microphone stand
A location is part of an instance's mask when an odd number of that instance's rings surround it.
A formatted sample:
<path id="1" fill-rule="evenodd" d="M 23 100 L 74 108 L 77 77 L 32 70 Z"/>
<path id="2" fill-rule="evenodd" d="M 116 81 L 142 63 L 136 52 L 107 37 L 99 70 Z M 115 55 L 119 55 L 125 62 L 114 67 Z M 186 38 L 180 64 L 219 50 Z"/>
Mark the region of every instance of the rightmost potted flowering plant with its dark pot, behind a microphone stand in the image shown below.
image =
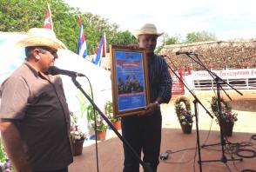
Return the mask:
<path id="1" fill-rule="evenodd" d="M 212 113 L 216 116 L 215 121 L 219 123 L 223 136 L 232 136 L 234 122 L 238 121 L 238 114 L 232 112 L 230 103 L 226 103 L 223 98 L 219 99 L 220 110 L 218 110 L 218 98 L 212 96 L 211 108 Z"/>

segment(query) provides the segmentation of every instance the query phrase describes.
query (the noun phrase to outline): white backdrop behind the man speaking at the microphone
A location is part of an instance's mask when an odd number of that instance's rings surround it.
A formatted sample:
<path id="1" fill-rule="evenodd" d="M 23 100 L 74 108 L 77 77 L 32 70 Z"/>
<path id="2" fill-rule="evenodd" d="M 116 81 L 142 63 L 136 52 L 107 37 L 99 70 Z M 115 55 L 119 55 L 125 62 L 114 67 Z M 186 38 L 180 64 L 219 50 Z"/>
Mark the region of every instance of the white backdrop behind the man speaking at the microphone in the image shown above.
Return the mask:
<path id="1" fill-rule="evenodd" d="M 23 33 L 0 32 L 0 84 L 10 76 L 13 70 L 24 62 L 24 48 L 18 48 L 15 43 L 26 35 Z M 104 112 L 104 103 L 111 100 L 111 74 L 109 71 L 99 68 L 88 60 L 78 56 L 71 50 L 58 50 L 58 58 L 55 65 L 60 69 L 68 69 L 83 73 L 91 82 L 94 102 Z M 78 117 L 78 124 L 82 129 L 87 130 L 86 111 L 81 114 L 80 103 L 89 104 L 89 101 L 82 95 L 79 89 L 72 83 L 71 77 L 62 76 L 64 92 L 70 110 Z M 84 91 L 91 95 L 89 83 L 85 77 L 77 77 Z M 79 99 L 77 97 L 82 97 Z M 1 100 L 0 100 L 1 101 Z M 81 102 L 82 101 L 82 102 Z M 0 102 L 1 103 L 1 102 Z"/>

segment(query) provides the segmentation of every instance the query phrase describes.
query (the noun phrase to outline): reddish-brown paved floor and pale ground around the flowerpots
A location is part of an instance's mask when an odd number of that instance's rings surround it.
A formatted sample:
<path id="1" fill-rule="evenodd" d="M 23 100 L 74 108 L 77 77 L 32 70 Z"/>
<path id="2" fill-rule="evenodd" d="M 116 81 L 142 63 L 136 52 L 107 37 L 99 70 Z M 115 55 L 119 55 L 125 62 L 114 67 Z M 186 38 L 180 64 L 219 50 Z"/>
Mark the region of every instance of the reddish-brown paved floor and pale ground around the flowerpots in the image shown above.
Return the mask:
<path id="1" fill-rule="evenodd" d="M 240 143 L 246 145 L 252 144 L 251 147 L 243 149 L 256 151 L 256 141 L 251 139 L 255 134 L 256 127 L 256 90 L 242 90 L 244 96 L 239 96 L 233 91 L 227 91 L 232 97 L 233 109 L 239 113 L 239 121 L 235 123 L 233 134 L 227 137 L 228 142 Z M 199 100 L 209 109 L 209 100 L 212 96 L 212 91 L 197 91 L 196 95 Z M 189 94 L 187 94 L 189 96 Z M 158 172 L 190 172 L 199 171 L 199 152 L 196 150 L 197 135 L 195 122 L 193 123 L 192 134 L 185 135 L 182 133 L 177 116 L 174 113 L 173 101 L 169 104 L 162 105 L 163 111 L 163 132 L 161 153 L 166 151 L 178 153 L 170 153 L 166 161 L 161 161 L 158 166 Z M 191 97 L 191 100 L 193 98 Z M 235 102 L 235 103 L 234 103 Z M 212 123 L 212 125 L 211 125 Z M 121 132 L 121 131 L 120 131 Z M 90 171 L 96 172 L 96 147 L 95 141 L 85 142 L 83 154 L 74 157 L 74 162 L 70 166 L 71 172 Z M 205 113 L 205 110 L 199 105 L 199 142 L 200 145 L 219 143 L 219 125 Z M 231 145 L 232 146 L 232 145 Z M 229 144 L 224 147 L 225 152 L 232 148 Z M 243 158 L 243 161 L 228 161 L 221 162 L 223 157 L 222 147 L 209 146 L 201 150 L 202 171 L 206 172 L 226 172 L 226 171 L 242 171 L 243 169 L 254 169 L 256 171 L 256 158 Z M 240 156 L 251 156 L 252 152 L 242 151 Z M 230 154 L 224 154 L 230 160 Z M 238 155 L 233 155 L 235 158 L 240 158 Z M 123 168 L 123 149 L 122 142 L 111 131 L 107 132 L 107 139 L 103 142 L 98 142 L 98 163 L 99 171 L 101 172 L 120 172 Z M 204 161 L 214 162 L 204 162 Z M 194 162 L 195 161 L 195 162 Z M 195 166 L 195 167 L 194 167 Z M 143 171 L 143 170 L 141 170 Z"/>

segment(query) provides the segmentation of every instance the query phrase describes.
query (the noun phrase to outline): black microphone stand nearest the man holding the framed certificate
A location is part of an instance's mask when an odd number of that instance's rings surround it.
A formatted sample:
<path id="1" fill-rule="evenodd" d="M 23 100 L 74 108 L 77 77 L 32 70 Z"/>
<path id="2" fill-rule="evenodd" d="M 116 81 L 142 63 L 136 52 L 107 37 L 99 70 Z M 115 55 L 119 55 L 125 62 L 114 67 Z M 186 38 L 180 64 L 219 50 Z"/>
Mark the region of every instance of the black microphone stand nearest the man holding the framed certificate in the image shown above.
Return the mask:
<path id="1" fill-rule="evenodd" d="M 166 56 L 166 55 L 165 55 Z M 170 62 L 172 63 L 172 60 L 169 56 L 166 56 Z M 172 63 L 173 64 L 173 63 Z M 197 145 L 198 145 L 198 152 L 199 152 L 199 171 L 202 172 L 202 161 L 201 161 L 201 150 L 200 150 L 200 139 L 199 139 L 199 110 L 198 110 L 198 103 L 205 109 L 206 113 L 213 118 L 211 113 L 205 108 L 205 106 L 199 101 L 199 98 L 195 95 L 195 93 L 192 92 L 192 89 L 189 89 L 188 86 L 182 81 L 182 79 L 178 76 L 178 74 L 175 73 L 175 71 L 167 64 L 168 68 L 172 70 L 172 73 L 179 79 L 179 81 L 185 86 L 185 88 L 191 93 L 191 95 L 194 97 L 194 111 L 195 111 L 195 118 L 196 118 L 196 129 L 197 129 Z"/>

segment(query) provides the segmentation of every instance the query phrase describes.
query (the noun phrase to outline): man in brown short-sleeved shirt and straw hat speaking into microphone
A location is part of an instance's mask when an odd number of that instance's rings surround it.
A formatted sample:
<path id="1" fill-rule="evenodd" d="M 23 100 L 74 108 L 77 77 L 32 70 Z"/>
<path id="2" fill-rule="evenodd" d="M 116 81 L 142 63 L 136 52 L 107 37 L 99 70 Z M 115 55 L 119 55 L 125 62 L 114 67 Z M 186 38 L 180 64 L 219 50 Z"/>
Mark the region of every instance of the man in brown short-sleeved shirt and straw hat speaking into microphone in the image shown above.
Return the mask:
<path id="1" fill-rule="evenodd" d="M 43 28 L 30 29 L 17 45 L 26 60 L 0 89 L 4 149 L 18 172 L 66 172 L 73 161 L 70 114 L 61 78 L 47 73 L 65 45 Z"/>

